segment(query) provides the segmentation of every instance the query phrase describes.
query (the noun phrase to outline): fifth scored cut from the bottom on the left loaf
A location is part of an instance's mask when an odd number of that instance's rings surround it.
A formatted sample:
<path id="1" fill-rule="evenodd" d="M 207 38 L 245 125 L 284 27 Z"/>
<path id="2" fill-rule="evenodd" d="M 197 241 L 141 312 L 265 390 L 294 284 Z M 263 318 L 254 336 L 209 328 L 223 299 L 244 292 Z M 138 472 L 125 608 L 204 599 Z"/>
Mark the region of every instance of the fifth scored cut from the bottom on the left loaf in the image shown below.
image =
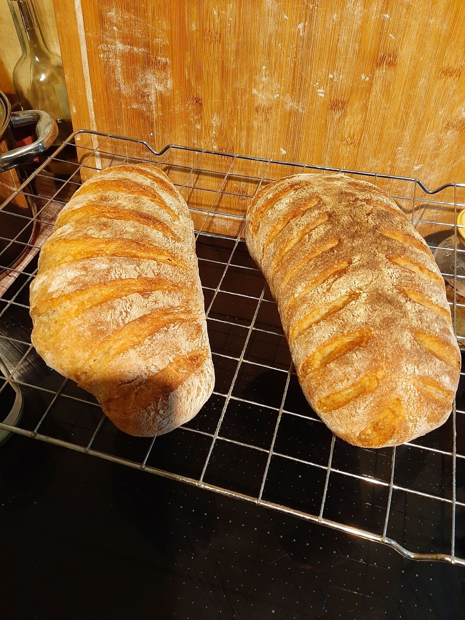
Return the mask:
<path id="1" fill-rule="evenodd" d="M 56 220 L 55 230 L 58 230 L 65 224 L 75 222 L 79 219 L 89 218 L 105 218 L 105 219 L 119 219 L 127 222 L 137 222 L 153 228 L 156 231 L 161 232 L 166 237 L 170 237 L 175 241 L 180 241 L 180 238 L 172 231 L 172 229 L 156 218 L 154 215 L 149 215 L 143 211 L 136 211 L 133 209 L 120 208 L 117 205 L 107 205 L 104 201 L 89 201 L 86 205 L 81 206 L 78 209 L 61 211 L 58 219 Z"/>

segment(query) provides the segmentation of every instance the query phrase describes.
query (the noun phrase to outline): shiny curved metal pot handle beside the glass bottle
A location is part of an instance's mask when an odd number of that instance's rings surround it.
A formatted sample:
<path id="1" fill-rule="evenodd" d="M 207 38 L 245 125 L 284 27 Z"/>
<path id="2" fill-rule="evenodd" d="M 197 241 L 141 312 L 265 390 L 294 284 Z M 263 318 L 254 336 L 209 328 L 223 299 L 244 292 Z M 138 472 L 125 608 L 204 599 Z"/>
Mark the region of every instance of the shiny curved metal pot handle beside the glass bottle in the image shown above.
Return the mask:
<path id="1" fill-rule="evenodd" d="M 12 112 L 10 124 L 14 127 L 20 125 L 31 125 L 36 123 L 35 135 L 37 140 L 25 146 L 19 146 L 17 149 L 8 151 L 0 155 L 0 172 L 6 172 L 20 164 L 26 164 L 32 161 L 38 154 L 47 151 L 48 147 L 53 144 L 56 136 L 58 136 L 58 126 L 55 119 L 48 112 L 41 110 L 22 110 L 21 112 Z"/>

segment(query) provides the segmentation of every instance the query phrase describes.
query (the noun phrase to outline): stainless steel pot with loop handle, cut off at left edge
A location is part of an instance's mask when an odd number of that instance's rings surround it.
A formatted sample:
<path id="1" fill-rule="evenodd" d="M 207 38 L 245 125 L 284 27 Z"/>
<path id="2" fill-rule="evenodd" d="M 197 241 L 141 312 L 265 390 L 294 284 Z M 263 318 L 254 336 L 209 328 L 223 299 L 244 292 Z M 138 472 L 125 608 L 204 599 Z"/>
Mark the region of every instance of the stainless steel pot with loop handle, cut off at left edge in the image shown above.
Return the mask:
<path id="1" fill-rule="evenodd" d="M 12 128 L 33 123 L 36 124 L 35 141 L 18 147 Z M 24 182 L 27 175 L 23 164 L 46 151 L 57 135 L 58 128 L 50 114 L 40 110 L 11 112 L 8 99 L 0 91 L 0 173 L 5 173 L 0 174 L 0 179 L 8 177 L 7 185 L 17 187 L 18 183 Z M 12 169 L 15 170 L 7 172 Z M 22 260 L 28 250 L 25 244 L 32 241 L 36 231 L 35 200 L 30 190 L 25 192 L 27 194 L 20 193 L 15 200 L 4 205 L 0 213 L 0 278 L 8 273 L 8 267 L 14 268 Z M 11 243 L 11 239 L 18 243 Z"/>

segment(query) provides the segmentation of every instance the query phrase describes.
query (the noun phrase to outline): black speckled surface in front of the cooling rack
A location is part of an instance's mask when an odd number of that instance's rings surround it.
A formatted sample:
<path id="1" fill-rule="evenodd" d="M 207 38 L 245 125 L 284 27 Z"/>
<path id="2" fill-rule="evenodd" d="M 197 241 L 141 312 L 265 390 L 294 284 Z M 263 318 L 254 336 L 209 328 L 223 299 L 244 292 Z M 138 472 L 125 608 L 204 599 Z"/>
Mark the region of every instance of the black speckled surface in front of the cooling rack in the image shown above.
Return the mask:
<path id="1" fill-rule="evenodd" d="M 0 617 L 464 618 L 464 576 L 250 503 L 12 436 Z"/>

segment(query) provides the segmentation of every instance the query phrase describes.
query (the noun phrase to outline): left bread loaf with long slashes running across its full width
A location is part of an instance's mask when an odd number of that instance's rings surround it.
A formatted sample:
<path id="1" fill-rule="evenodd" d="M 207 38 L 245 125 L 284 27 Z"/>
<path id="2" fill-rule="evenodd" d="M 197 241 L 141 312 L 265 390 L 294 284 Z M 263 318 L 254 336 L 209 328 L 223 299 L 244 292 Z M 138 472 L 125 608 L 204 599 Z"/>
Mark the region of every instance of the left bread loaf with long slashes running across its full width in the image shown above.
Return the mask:
<path id="1" fill-rule="evenodd" d="M 215 381 L 187 205 L 151 164 L 82 185 L 40 252 L 32 343 L 126 433 L 187 422 Z"/>

